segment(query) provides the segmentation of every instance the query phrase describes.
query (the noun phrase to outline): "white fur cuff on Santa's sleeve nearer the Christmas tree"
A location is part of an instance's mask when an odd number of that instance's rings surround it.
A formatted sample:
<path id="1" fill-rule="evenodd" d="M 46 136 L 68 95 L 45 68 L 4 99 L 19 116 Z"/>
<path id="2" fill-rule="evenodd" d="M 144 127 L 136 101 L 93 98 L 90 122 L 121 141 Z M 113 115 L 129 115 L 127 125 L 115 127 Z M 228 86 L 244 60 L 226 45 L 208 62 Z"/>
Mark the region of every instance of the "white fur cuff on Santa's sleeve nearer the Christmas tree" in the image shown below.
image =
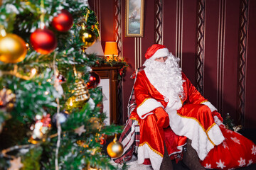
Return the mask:
<path id="1" fill-rule="evenodd" d="M 137 114 L 139 115 L 139 118 L 144 119 L 147 115 L 149 115 L 146 113 L 150 113 L 155 108 L 159 107 L 164 108 L 160 102 L 156 101 L 154 98 L 149 98 L 143 101 L 142 104 L 137 108 Z"/>

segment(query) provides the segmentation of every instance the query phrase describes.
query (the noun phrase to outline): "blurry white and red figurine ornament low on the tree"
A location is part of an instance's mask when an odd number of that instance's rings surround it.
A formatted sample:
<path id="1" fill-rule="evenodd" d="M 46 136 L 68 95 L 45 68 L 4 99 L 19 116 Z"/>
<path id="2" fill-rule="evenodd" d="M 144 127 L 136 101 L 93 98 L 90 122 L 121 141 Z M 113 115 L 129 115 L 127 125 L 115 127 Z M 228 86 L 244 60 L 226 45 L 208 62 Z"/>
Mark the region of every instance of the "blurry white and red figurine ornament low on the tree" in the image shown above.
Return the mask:
<path id="1" fill-rule="evenodd" d="M 50 114 L 47 115 L 36 115 L 36 123 L 31 125 L 32 135 L 28 142 L 37 144 L 38 142 L 45 142 L 47 134 L 51 128 Z"/>

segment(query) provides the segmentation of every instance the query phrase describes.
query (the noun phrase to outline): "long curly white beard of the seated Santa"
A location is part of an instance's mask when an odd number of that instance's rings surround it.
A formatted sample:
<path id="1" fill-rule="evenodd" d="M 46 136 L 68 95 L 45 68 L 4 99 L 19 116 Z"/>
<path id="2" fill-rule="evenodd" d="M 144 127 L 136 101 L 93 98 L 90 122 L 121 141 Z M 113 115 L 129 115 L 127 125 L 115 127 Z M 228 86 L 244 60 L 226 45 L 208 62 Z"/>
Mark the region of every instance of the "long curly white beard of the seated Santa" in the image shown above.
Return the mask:
<path id="1" fill-rule="evenodd" d="M 146 77 L 164 98 L 168 98 L 169 103 L 183 98 L 183 80 L 178 60 L 170 53 L 166 62 L 157 62 L 149 58 L 143 64 Z"/>

